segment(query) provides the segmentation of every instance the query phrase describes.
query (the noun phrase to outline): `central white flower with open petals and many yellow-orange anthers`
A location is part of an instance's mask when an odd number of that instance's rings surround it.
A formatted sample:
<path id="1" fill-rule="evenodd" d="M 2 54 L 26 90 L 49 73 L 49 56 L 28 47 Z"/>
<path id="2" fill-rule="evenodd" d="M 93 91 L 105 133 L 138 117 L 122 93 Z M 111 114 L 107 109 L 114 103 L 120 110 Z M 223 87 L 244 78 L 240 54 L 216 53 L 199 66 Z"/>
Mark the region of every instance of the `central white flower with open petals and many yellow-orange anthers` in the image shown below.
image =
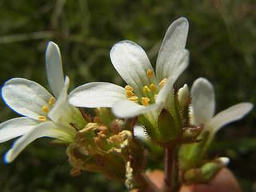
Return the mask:
<path id="1" fill-rule="evenodd" d="M 186 18 L 169 26 L 159 50 L 156 73 L 142 47 L 130 41 L 118 42 L 110 58 L 128 85 L 123 88 L 107 82 L 87 83 L 70 93 L 69 102 L 81 107 L 113 107 L 119 118 L 168 108 L 173 84 L 188 66 L 187 33 Z"/>

